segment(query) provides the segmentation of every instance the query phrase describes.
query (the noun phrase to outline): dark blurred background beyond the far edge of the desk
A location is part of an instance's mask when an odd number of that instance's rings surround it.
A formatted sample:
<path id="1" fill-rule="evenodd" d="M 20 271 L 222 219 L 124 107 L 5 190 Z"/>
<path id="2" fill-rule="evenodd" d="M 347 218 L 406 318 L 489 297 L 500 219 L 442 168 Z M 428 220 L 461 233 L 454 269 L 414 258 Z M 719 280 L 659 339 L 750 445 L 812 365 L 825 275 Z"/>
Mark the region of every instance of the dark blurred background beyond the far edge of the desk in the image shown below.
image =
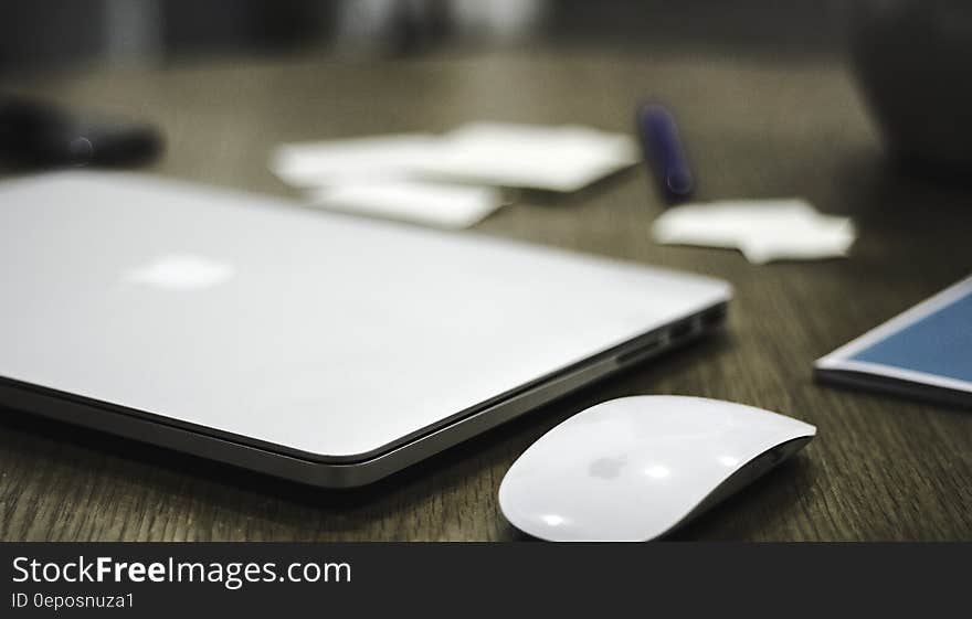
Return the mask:
<path id="1" fill-rule="evenodd" d="M 537 42 L 820 55 L 841 50 L 837 12 L 812 0 L 10 0 L 0 71 Z"/>

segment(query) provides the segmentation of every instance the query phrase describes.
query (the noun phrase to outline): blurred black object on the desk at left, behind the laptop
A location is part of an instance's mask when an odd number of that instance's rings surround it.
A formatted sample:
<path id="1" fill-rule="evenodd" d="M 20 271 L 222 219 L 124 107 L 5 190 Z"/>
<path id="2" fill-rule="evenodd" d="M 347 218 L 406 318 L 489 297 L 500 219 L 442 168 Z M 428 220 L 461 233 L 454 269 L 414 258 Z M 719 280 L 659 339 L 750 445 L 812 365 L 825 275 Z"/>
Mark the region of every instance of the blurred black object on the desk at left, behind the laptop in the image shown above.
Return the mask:
<path id="1" fill-rule="evenodd" d="M 0 162 L 15 168 L 135 166 L 161 150 L 151 126 L 70 113 L 21 97 L 0 99 Z"/>

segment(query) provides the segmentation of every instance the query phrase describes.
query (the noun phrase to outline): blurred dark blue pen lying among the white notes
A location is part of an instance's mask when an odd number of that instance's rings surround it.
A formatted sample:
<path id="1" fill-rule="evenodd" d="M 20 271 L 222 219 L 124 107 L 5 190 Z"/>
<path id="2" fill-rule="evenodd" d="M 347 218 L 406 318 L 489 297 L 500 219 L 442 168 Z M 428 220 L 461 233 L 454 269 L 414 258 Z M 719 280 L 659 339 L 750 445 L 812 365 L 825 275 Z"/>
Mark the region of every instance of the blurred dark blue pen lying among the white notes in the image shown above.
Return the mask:
<path id="1" fill-rule="evenodd" d="M 646 103 L 637 109 L 637 130 L 645 161 L 669 203 L 691 195 L 695 179 L 688 167 L 675 117 L 663 106 Z"/>

